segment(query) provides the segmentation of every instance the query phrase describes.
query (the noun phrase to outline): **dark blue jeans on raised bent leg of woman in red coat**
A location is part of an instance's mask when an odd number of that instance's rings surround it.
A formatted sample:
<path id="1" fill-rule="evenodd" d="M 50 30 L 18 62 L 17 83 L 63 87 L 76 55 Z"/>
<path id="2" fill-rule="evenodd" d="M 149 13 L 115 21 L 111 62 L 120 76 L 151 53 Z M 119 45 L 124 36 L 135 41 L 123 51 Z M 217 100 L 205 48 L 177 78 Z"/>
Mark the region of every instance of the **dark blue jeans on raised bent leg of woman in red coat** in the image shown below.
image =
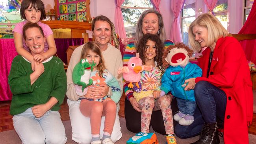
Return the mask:
<path id="1" fill-rule="evenodd" d="M 224 121 L 226 93 L 207 81 L 195 85 L 195 99 L 206 124 L 216 122 L 216 116 Z"/>

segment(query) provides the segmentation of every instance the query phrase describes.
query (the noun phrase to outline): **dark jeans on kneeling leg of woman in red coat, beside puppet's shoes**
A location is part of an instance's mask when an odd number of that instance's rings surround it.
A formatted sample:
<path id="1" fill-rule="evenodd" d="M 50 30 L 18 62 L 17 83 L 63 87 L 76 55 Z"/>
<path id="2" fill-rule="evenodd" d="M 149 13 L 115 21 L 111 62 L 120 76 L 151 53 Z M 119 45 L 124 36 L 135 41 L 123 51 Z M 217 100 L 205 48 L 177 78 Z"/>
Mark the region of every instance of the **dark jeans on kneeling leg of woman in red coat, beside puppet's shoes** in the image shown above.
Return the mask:
<path id="1" fill-rule="evenodd" d="M 190 138 L 195 137 L 200 134 L 202 127 L 204 125 L 204 120 L 202 118 L 202 115 L 196 107 L 195 113 L 194 113 L 194 122 L 189 126 L 182 126 L 180 124 L 177 124 L 174 127 L 174 133 L 179 138 Z"/>

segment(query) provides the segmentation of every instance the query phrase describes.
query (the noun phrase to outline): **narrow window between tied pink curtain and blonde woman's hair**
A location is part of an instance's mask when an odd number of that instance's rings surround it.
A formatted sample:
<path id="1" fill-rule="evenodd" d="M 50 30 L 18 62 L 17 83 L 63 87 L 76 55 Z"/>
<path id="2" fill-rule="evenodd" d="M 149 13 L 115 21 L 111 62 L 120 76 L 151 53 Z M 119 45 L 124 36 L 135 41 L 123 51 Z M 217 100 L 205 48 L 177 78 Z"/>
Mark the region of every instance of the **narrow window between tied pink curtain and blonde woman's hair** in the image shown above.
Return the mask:
<path id="1" fill-rule="evenodd" d="M 195 0 L 187 0 L 182 10 L 182 39 L 183 43 L 188 45 L 188 28 L 195 20 Z"/>

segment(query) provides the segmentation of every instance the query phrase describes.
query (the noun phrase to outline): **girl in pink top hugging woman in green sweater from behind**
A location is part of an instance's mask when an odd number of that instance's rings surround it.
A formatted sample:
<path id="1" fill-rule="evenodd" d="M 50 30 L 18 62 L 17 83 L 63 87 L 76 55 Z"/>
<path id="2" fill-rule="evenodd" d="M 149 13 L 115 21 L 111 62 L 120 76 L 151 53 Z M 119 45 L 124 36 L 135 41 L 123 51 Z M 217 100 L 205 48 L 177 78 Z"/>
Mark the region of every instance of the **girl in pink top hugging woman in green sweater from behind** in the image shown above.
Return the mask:
<path id="1" fill-rule="evenodd" d="M 33 70 L 33 61 L 42 62 L 44 59 L 51 57 L 56 53 L 56 45 L 54 41 L 54 35 L 52 30 L 47 24 L 43 24 L 40 20 L 46 18 L 45 5 L 41 0 L 23 0 L 20 6 L 20 16 L 25 19 L 23 22 L 19 22 L 13 29 L 14 44 L 18 54 L 22 55 L 28 61 L 31 62 Z M 45 34 L 45 53 L 32 56 L 30 50 L 26 46 L 22 36 L 22 28 L 27 22 L 37 23 L 43 29 Z M 34 41 L 32 38 L 28 38 L 28 41 Z M 35 47 L 37 43 L 34 43 Z"/>

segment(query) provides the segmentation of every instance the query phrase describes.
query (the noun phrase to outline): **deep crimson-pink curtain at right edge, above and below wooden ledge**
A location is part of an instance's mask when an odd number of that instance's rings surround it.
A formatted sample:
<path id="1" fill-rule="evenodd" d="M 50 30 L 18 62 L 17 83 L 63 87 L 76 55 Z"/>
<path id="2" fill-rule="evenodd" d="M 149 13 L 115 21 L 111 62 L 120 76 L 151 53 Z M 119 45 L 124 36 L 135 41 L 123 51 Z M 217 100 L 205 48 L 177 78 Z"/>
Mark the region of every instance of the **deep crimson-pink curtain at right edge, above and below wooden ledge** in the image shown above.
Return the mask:
<path id="1" fill-rule="evenodd" d="M 249 16 L 238 34 L 256 34 L 256 1 L 254 0 Z M 240 41 L 248 61 L 256 64 L 256 39 Z"/>

